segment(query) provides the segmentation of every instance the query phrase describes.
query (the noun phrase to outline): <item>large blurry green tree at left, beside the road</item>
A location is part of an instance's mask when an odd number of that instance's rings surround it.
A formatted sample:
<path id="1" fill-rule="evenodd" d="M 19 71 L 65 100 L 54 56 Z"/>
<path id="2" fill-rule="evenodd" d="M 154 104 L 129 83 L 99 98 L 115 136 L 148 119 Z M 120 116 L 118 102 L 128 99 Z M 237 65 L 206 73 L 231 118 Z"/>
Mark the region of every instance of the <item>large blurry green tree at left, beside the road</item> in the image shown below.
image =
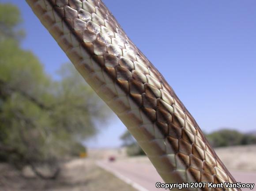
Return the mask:
<path id="1" fill-rule="evenodd" d="M 78 155 L 109 112 L 72 64 L 62 66 L 60 81 L 45 73 L 20 47 L 20 22 L 17 7 L 0 4 L 0 160 L 36 171 Z"/>

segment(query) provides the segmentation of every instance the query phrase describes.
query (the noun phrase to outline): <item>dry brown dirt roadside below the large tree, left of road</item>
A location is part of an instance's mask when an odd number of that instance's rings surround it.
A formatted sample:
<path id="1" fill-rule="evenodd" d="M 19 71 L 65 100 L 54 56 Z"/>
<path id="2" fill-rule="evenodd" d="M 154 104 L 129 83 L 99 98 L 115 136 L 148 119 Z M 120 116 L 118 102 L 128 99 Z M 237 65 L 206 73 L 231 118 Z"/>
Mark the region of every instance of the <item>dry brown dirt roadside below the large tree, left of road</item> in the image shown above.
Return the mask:
<path id="1" fill-rule="evenodd" d="M 23 177 L 0 164 L 0 191 L 135 191 L 133 187 L 99 168 L 90 159 L 74 159 L 63 165 L 57 180 Z"/>

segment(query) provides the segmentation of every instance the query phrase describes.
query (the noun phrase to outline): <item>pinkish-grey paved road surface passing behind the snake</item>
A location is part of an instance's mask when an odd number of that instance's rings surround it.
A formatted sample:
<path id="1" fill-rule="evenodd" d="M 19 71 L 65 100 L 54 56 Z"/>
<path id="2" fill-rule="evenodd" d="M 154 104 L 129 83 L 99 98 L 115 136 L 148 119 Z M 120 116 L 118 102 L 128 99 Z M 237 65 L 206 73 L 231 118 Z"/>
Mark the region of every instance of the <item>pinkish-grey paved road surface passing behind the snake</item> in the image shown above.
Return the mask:
<path id="1" fill-rule="evenodd" d="M 158 175 L 153 165 L 148 162 L 129 162 L 120 160 L 116 162 L 100 161 L 101 166 L 106 166 L 114 173 L 126 177 L 128 180 L 139 184 L 148 191 L 166 191 L 155 187 L 156 182 L 162 182 L 162 178 Z M 253 190 L 243 189 L 243 191 L 256 191 L 256 172 L 238 172 L 231 171 L 238 182 L 254 183 Z"/>

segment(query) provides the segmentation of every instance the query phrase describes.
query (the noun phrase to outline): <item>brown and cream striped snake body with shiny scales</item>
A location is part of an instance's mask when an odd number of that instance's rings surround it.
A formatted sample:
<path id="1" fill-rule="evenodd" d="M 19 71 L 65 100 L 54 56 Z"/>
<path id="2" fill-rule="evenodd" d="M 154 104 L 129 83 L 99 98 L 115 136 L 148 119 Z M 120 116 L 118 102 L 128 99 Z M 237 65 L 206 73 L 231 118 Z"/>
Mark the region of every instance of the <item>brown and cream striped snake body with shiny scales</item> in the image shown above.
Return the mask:
<path id="1" fill-rule="evenodd" d="M 134 136 L 165 183 L 236 184 L 173 88 L 102 0 L 26 2 Z M 184 190 L 241 191 L 208 184 Z"/>

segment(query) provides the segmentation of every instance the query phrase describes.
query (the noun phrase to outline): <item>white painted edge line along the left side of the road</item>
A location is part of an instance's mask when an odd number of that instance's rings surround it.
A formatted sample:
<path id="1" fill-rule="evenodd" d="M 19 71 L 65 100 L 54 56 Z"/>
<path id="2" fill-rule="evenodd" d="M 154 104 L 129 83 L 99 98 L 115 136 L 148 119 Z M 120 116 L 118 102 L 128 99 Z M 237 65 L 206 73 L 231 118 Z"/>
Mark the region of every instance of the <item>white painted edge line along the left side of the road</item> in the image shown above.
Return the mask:
<path id="1" fill-rule="evenodd" d="M 118 173 L 117 171 L 107 167 L 106 165 L 104 165 L 102 162 L 96 162 L 96 164 L 101 167 L 102 169 L 108 171 L 109 173 L 112 173 L 113 175 L 117 176 L 117 178 L 119 178 L 120 180 L 123 180 L 126 184 L 131 185 L 132 187 L 134 187 L 135 189 L 137 189 L 138 191 L 149 191 L 146 188 L 142 187 L 141 185 L 137 184 L 136 182 L 128 179 L 127 177 L 123 176 L 122 174 Z"/>

